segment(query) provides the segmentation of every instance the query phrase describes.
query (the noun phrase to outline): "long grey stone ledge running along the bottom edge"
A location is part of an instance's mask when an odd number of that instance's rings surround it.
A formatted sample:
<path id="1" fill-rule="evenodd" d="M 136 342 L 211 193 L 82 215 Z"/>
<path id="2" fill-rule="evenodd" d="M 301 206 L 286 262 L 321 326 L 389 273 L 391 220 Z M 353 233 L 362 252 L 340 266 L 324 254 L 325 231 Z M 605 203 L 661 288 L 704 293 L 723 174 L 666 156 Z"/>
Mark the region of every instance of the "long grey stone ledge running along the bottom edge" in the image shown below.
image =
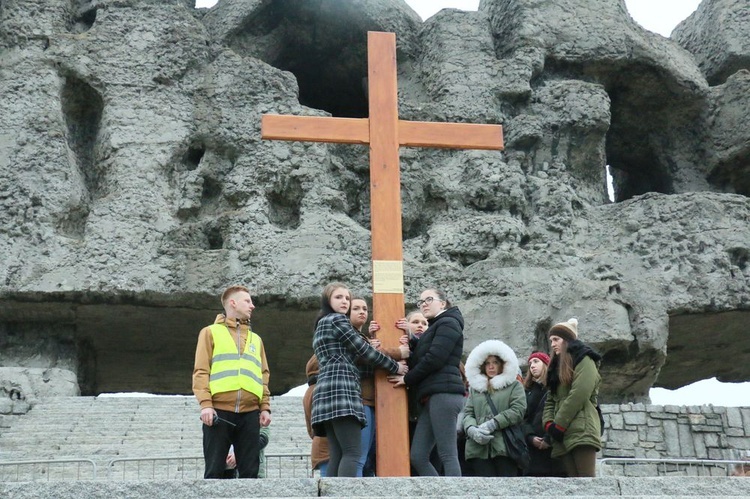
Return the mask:
<path id="1" fill-rule="evenodd" d="M 0 483 L 0 497 L 747 497 L 744 478 L 298 478 Z"/>

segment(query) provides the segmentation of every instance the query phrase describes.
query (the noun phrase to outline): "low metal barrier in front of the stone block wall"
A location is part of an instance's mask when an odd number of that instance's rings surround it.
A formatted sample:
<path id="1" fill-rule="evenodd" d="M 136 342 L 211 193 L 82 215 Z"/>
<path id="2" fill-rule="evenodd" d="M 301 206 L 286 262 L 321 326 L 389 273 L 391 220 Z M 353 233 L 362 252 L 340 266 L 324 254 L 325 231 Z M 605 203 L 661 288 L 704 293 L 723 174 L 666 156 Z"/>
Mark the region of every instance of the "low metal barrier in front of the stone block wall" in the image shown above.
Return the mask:
<path id="1" fill-rule="evenodd" d="M 741 459 L 651 459 L 606 457 L 597 461 L 599 476 L 748 476 Z"/>

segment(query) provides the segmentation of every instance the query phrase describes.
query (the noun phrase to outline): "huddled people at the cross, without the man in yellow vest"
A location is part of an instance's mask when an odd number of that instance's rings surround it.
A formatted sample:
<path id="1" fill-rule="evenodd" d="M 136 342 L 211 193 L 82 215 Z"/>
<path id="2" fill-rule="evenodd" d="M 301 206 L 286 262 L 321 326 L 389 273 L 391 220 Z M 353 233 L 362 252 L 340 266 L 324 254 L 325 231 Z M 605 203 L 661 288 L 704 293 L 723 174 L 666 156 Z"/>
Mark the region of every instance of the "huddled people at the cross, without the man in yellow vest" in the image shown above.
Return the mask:
<path id="1" fill-rule="evenodd" d="M 367 302 L 344 284 L 325 287 L 303 402 L 322 476 L 375 473 L 374 368 L 408 390 L 415 475 L 595 476 L 601 356 L 578 339 L 576 319 L 550 328 L 552 355 L 533 352 L 524 378 L 500 340 L 479 344 L 462 364 L 464 319 L 441 290 L 424 290 L 417 310 L 397 321 L 397 349 L 382 347 L 377 322 L 364 330 L 367 318 Z"/>

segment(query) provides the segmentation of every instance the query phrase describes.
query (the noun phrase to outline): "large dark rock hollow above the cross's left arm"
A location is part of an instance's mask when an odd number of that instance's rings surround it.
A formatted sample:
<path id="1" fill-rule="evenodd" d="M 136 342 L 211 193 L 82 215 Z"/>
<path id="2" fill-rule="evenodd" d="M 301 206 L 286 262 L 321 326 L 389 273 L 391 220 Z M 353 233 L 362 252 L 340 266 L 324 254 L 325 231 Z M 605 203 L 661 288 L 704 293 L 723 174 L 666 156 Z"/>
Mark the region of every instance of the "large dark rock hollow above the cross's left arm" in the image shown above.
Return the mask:
<path id="1" fill-rule="evenodd" d="M 229 45 L 293 73 L 301 104 L 362 118 L 368 115 L 367 31 L 375 28 L 348 0 L 279 0 L 248 19 Z"/>

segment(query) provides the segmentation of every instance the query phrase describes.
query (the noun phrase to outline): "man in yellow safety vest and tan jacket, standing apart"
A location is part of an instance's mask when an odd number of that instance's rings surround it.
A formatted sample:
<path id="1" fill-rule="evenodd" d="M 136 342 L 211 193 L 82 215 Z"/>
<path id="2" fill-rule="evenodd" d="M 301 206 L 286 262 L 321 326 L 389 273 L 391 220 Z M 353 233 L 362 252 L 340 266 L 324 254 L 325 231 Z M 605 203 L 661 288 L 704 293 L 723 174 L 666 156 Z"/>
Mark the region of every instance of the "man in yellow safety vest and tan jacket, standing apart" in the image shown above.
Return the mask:
<path id="1" fill-rule="evenodd" d="M 263 341 L 250 330 L 250 291 L 231 286 L 221 294 L 224 313 L 198 335 L 193 393 L 201 406 L 204 478 L 222 478 L 234 445 L 240 478 L 257 478 L 260 427 L 271 424 L 271 393 Z"/>

